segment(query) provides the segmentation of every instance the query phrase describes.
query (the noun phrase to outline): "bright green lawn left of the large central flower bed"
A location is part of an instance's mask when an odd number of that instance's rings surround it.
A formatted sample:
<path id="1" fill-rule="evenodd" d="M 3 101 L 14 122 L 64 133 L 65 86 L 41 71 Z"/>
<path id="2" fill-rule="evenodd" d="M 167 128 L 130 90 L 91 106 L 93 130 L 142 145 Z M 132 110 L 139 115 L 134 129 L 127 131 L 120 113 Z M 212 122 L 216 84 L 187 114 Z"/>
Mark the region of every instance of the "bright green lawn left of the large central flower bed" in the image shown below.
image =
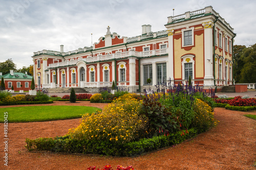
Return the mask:
<path id="1" fill-rule="evenodd" d="M 100 110 L 88 106 L 29 106 L 0 108 L 0 123 L 4 122 L 4 113 L 8 112 L 8 123 L 37 122 L 59 119 L 79 118 L 81 114 Z"/>

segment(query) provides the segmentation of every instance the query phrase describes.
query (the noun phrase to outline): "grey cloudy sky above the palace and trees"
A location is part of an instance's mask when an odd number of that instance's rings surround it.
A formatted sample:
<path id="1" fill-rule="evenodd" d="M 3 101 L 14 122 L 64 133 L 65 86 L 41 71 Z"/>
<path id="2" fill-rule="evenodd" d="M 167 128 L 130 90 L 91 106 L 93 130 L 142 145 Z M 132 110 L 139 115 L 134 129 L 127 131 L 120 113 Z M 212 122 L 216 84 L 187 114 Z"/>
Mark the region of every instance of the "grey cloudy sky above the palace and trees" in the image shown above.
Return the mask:
<path id="1" fill-rule="evenodd" d="M 0 62 L 32 64 L 33 52 L 91 46 L 106 27 L 120 36 L 141 35 L 141 26 L 165 30 L 167 17 L 212 6 L 237 33 L 234 44 L 256 43 L 256 1 L 243 0 L 0 0 Z M 91 34 L 93 38 L 91 39 Z M 0 70 L 1 71 L 1 70 Z"/>

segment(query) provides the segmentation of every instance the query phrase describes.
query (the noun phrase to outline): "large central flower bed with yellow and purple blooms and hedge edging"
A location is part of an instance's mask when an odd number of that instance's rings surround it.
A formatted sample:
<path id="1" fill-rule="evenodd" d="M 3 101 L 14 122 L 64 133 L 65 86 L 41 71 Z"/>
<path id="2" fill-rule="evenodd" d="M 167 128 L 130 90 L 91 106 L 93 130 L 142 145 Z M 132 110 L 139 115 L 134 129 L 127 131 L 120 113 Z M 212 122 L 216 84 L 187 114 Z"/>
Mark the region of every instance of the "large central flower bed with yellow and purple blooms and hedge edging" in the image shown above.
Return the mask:
<path id="1" fill-rule="evenodd" d="M 180 143 L 217 124 L 214 102 L 202 88 L 178 85 L 168 91 L 143 98 L 124 93 L 101 112 L 83 115 L 80 125 L 65 136 L 27 139 L 27 149 L 135 156 Z M 103 99 L 102 94 L 92 98 Z"/>

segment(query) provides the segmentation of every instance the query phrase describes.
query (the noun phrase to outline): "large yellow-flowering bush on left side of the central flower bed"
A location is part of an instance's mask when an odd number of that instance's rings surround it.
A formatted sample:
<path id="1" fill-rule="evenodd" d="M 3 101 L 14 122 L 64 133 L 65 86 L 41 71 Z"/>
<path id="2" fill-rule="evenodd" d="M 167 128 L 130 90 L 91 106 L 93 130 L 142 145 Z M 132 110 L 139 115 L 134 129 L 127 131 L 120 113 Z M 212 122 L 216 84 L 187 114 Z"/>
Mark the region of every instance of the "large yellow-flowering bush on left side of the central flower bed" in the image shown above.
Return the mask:
<path id="1" fill-rule="evenodd" d="M 97 94 L 97 96 L 100 95 Z M 76 140 L 121 143 L 145 137 L 148 118 L 139 115 L 141 101 L 131 96 L 125 99 L 125 102 L 121 98 L 114 100 L 113 103 L 104 107 L 102 112 L 83 115 L 80 125 L 70 129 L 68 135 Z"/>

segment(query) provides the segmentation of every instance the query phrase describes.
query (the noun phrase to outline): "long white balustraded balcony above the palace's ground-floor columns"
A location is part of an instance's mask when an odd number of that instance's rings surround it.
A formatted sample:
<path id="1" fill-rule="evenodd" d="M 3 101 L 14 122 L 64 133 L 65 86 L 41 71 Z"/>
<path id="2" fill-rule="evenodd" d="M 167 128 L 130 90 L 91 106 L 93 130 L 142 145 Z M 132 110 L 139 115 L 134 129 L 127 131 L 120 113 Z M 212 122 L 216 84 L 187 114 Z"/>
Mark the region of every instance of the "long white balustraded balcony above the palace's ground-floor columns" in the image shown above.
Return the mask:
<path id="1" fill-rule="evenodd" d="M 47 66 L 47 69 L 75 65 L 78 61 L 92 63 L 92 62 L 108 61 L 108 60 L 121 59 L 121 58 L 127 58 L 127 57 L 145 58 L 145 57 L 150 57 L 150 56 L 159 56 L 159 55 L 166 55 L 166 54 L 167 54 L 167 48 L 145 51 L 145 52 L 128 51 L 128 52 L 107 54 L 107 55 L 103 55 L 103 56 L 88 57 L 88 58 L 83 58 L 83 59 L 78 59 L 78 60 L 53 63 L 53 64 L 49 64 L 49 66 Z"/>

